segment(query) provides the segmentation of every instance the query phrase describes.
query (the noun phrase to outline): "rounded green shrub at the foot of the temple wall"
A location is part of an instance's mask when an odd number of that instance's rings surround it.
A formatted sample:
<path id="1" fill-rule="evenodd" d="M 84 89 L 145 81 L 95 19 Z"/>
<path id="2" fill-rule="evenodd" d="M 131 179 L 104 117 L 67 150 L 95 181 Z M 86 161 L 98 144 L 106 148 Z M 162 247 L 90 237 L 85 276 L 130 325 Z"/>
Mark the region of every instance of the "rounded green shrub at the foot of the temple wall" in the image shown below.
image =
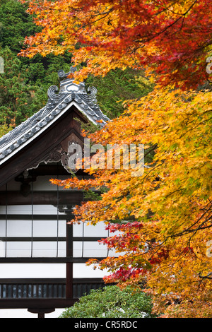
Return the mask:
<path id="1" fill-rule="evenodd" d="M 91 290 L 59 318 L 153 318 L 151 297 L 141 290 L 116 285 Z"/>

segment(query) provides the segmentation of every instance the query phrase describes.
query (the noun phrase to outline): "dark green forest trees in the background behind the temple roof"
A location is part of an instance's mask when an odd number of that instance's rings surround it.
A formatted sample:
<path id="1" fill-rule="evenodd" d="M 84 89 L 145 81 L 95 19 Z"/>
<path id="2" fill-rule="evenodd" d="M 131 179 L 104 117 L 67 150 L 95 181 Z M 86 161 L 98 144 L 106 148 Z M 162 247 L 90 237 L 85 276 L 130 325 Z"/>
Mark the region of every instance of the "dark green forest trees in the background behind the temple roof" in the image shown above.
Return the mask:
<path id="1" fill-rule="evenodd" d="M 0 75 L 1 134 L 20 124 L 47 102 L 47 90 L 59 85 L 57 72 L 69 72 L 71 53 L 37 54 L 33 59 L 18 56 L 26 36 L 41 30 L 26 13 L 27 4 L 18 0 L 0 0 L 0 57 L 4 58 L 4 74 Z M 86 86 L 98 89 L 98 102 L 107 117 L 113 119 L 124 111 L 122 102 L 139 98 L 152 90 L 143 72 L 114 70 L 105 78 L 89 76 Z M 87 126 L 87 129 L 89 127 Z"/>

